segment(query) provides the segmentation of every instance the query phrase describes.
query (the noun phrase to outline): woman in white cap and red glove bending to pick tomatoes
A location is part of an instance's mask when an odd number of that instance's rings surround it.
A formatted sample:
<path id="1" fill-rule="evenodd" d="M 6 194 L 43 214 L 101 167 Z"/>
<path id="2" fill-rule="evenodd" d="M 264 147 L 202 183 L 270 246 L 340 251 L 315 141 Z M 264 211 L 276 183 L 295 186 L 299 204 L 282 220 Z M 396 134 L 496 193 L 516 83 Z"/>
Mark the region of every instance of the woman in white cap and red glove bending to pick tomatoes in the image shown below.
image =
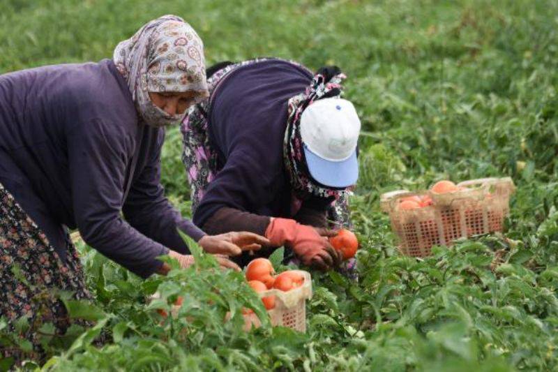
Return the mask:
<path id="1" fill-rule="evenodd" d="M 207 75 L 209 98 L 181 126 L 194 223 L 211 234 L 265 235 L 305 265 L 338 265 L 324 236 L 348 223 L 361 126 L 340 98 L 345 76 L 337 67 L 314 75 L 282 59 L 225 62 Z"/>

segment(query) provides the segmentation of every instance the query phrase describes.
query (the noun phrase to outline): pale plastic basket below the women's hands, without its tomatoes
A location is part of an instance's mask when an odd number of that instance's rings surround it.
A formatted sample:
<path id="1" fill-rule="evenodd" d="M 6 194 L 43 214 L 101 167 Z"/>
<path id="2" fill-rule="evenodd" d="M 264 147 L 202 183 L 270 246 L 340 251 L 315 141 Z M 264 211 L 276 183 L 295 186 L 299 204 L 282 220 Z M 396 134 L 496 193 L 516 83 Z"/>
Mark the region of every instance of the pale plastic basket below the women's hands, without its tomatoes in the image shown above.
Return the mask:
<path id="1" fill-rule="evenodd" d="M 312 277 L 308 271 L 296 270 L 304 276 L 304 283 L 299 288 L 283 292 L 271 289 L 259 293 L 259 297 L 275 296 L 275 307 L 268 310 L 271 325 L 295 329 L 306 332 L 306 300 L 312 297 Z M 244 315 L 246 327 L 261 324 L 255 313 Z"/>

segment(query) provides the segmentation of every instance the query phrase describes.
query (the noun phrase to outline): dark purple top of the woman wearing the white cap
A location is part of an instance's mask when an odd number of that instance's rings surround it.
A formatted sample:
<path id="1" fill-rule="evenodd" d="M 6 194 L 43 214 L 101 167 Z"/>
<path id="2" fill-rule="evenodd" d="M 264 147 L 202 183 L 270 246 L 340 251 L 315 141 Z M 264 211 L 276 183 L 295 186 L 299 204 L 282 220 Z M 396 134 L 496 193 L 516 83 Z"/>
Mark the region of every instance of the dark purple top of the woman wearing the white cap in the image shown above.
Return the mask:
<path id="1" fill-rule="evenodd" d="M 291 187 L 283 164 L 287 102 L 311 78 L 304 68 L 271 60 L 234 70 L 213 91 L 207 131 L 224 166 L 195 210 L 196 225 L 205 227 L 223 207 L 259 216 L 289 214 Z"/>

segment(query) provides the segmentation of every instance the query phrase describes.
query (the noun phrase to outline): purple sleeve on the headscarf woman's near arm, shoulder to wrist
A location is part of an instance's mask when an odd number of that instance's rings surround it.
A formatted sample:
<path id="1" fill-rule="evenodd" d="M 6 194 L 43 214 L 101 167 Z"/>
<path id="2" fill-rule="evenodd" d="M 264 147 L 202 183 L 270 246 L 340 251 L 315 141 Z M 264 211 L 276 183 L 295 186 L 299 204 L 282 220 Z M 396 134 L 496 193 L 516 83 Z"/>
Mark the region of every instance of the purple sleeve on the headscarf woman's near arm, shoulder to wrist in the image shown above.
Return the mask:
<path id="1" fill-rule="evenodd" d="M 146 278 L 160 268 L 156 258 L 168 249 L 121 218 L 129 140 L 119 126 L 99 119 L 68 133 L 73 209 L 86 244 Z"/>

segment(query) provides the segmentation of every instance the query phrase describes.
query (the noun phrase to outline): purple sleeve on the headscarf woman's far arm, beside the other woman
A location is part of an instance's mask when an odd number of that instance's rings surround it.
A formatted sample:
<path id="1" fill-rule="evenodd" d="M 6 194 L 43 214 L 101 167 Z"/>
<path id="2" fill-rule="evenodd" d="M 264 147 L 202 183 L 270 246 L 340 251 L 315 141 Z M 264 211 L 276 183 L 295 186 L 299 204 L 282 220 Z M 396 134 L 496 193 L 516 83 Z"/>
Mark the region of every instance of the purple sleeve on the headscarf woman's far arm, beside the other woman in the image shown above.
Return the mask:
<path id="1" fill-rule="evenodd" d="M 179 211 L 165 198 L 164 188 L 160 184 L 160 153 L 163 140 L 164 132 L 160 131 L 154 154 L 132 184 L 122 210 L 126 221 L 146 237 L 173 251 L 188 254 L 188 246 L 176 229 L 180 228 L 195 241 L 201 239 L 205 233 L 192 221 L 182 218 Z"/>

